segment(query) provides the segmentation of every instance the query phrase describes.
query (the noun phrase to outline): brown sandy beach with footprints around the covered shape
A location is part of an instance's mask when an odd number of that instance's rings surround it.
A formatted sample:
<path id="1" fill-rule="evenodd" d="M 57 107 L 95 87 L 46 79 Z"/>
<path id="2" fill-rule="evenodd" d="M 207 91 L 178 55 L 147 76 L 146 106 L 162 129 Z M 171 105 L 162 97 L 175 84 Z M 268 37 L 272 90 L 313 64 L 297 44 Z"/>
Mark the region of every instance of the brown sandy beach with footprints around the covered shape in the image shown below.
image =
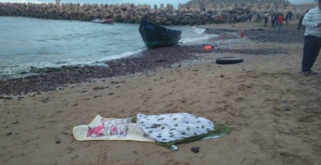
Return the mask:
<path id="1" fill-rule="evenodd" d="M 262 24 L 205 28 L 248 30 Z M 229 51 L 224 51 L 227 47 Z M 13 90 L 9 95 L 1 93 L 1 164 L 321 164 L 321 73 L 301 76 L 303 42 L 241 39 L 214 49 L 221 51 L 193 52 L 197 58 L 133 74 L 22 95 L 12 95 Z M 255 55 L 267 49 L 274 50 Z M 215 63 L 225 56 L 241 57 L 244 62 Z M 321 72 L 320 57 L 313 69 Z M 71 132 L 74 126 L 89 124 L 95 115 L 124 118 L 178 112 L 227 124 L 232 132 L 180 144 L 176 152 L 148 142 L 77 141 Z M 198 153 L 191 151 L 194 146 L 200 148 Z"/>

